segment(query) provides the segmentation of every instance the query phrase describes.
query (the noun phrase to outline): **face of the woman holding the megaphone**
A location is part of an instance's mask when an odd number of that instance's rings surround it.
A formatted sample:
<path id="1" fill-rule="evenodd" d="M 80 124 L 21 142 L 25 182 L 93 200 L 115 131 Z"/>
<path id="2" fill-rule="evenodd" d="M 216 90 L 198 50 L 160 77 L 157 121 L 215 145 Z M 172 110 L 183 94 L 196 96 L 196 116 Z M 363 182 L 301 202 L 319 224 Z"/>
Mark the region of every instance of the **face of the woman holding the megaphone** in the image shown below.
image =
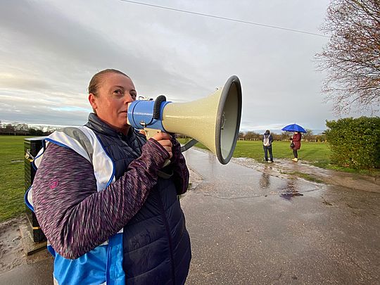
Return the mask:
<path id="1" fill-rule="evenodd" d="M 89 94 L 96 115 L 114 129 L 127 134 L 128 103 L 136 100 L 137 91 L 129 77 L 119 73 L 102 75 L 97 95 Z"/>

